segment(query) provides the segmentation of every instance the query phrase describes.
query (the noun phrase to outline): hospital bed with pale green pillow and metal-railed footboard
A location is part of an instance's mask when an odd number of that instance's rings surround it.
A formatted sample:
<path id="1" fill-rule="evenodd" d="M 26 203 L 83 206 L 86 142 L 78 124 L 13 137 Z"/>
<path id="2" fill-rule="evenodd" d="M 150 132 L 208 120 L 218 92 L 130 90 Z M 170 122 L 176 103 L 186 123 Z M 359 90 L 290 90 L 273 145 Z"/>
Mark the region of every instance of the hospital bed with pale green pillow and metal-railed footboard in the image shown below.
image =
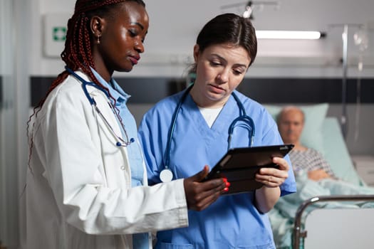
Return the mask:
<path id="1" fill-rule="evenodd" d="M 265 105 L 275 118 L 281 107 Z M 334 174 L 355 186 L 366 187 L 355 171 L 336 117 L 326 117 L 327 104 L 302 107 L 306 124 L 301 141 L 320 151 Z M 309 122 L 309 123 L 308 123 Z M 293 206 L 276 206 L 269 213 L 278 249 L 374 248 L 373 194 L 311 195 Z M 301 190 L 304 191 L 304 190 Z M 284 197 L 282 197 L 284 198 Z M 282 199 L 281 198 L 281 199 Z M 288 215 L 284 209 L 294 208 Z M 291 217 L 290 213 L 294 213 Z"/>

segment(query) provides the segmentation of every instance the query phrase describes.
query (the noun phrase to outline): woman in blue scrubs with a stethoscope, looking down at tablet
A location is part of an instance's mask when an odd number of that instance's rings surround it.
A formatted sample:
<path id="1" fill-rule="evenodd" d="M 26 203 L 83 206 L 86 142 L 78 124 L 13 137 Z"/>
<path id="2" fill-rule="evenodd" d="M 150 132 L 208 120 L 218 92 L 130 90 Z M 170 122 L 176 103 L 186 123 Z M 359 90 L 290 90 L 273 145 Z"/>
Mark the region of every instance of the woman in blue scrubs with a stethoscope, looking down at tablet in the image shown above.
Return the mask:
<path id="1" fill-rule="evenodd" d="M 221 14 L 205 24 L 194 46 L 194 84 L 158 102 L 140 124 L 150 184 L 169 181 L 165 172 L 180 179 L 203 165 L 214 166 L 228 148 L 283 144 L 265 108 L 236 90 L 256 51 L 248 18 Z M 242 115 L 241 105 L 253 124 L 234 122 Z M 204 211 L 189 211 L 189 226 L 159 231 L 155 248 L 275 248 L 266 213 L 281 196 L 294 193 L 296 184 L 289 158 L 273 160 L 279 169 L 256 175 L 264 184 L 260 189 L 221 196 Z"/>

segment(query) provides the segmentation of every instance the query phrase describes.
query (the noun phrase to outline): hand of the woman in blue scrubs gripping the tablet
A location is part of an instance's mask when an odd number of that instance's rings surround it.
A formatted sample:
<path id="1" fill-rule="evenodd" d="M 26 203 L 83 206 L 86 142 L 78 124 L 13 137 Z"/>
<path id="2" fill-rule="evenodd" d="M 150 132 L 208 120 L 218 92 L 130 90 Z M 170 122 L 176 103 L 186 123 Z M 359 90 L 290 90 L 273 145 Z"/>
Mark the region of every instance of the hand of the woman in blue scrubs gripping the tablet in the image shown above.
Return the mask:
<path id="1" fill-rule="evenodd" d="M 289 177 L 289 164 L 281 157 L 273 158 L 274 164 L 278 164 L 279 168 L 261 168 L 256 174 L 256 181 L 261 182 L 269 188 L 281 186 Z"/>

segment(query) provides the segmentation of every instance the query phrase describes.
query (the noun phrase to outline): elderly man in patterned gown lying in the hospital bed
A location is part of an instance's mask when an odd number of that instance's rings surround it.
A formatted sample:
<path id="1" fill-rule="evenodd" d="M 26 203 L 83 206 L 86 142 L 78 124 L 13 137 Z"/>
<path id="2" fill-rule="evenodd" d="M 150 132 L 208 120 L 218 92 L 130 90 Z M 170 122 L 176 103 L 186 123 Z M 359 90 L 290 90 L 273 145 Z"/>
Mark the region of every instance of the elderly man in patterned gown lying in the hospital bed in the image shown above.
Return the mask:
<path id="1" fill-rule="evenodd" d="M 295 144 L 289 153 L 298 187 L 298 194 L 291 196 L 294 201 L 298 198 L 298 201 L 305 201 L 306 197 L 313 197 L 311 195 L 374 194 L 372 187 L 358 186 L 338 179 L 321 153 L 301 144 L 301 132 L 306 120 L 299 107 L 284 107 L 276 122 L 284 142 Z"/>

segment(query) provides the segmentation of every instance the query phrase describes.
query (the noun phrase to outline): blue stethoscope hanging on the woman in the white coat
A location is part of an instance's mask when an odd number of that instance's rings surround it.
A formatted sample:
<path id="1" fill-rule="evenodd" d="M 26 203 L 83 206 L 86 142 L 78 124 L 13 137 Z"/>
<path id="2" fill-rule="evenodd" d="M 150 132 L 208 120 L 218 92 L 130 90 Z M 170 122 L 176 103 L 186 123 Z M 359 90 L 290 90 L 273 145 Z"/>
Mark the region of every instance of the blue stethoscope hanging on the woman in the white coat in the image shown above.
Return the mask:
<path id="1" fill-rule="evenodd" d="M 85 81 L 83 78 L 81 78 L 79 75 L 77 75 L 73 70 L 71 70 L 70 68 L 68 67 L 65 67 L 66 71 L 68 71 L 68 73 L 70 73 L 71 75 L 73 75 L 77 80 L 80 81 L 80 83 L 82 83 L 82 89 L 83 89 L 83 92 L 85 93 L 85 97 L 87 97 L 88 101 L 90 102 L 91 106 L 93 107 L 93 109 L 95 109 L 95 111 L 98 113 L 98 115 L 101 117 L 101 119 L 105 122 L 105 124 L 108 126 L 108 128 L 110 129 L 110 132 L 113 133 L 113 135 L 115 136 L 115 138 L 117 139 L 117 142 L 115 142 L 115 145 L 118 146 L 118 147 L 127 147 L 129 144 L 135 142 L 135 139 L 133 138 L 128 138 L 128 133 L 126 132 L 126 129 L 125 129 L 125 126 L 123 125 L 119 115 L 118 115 L 118 112 L 116 112 L 115 110 L 115 107 L 113 106 L 112 102 L 110 102 L 110 96 L 109 96 L 109 93 L 107 90 L 105 90 L 104 88 L 100 87 L 99 85 L 96 85 L 95 83 L 93 82 L 88 82 L 88 81 Z M 123 128 L 123 133 L 125 134 L 125 139 L 123 139 L 122 137 L 120 137 L 118 134 L 115 133 L 113 127 L 110 125 L 110 123 L 108 122 L 108 120 L 106 120 L 106 118 L 104 117 L 103 113 L 100 111 L 100 109 L 98 108 L 98 105 L 96 105 L 96 101 L 93 99 L 93 97 L 90 96 L 90 94 L 88 93 L 88 90 L 87 90 L 87 86 L 92 86 L 98 90 L 100 90 L 101 92 L 103 92 L 106 97 L 108 97 L 108 104 L 110 106 L 110 108 L 113 110 L 113 113 L 115 115 L 115 117 L 117 118 L 118 122 L 120 123 L 120 125 L 122 126 Z"/>

